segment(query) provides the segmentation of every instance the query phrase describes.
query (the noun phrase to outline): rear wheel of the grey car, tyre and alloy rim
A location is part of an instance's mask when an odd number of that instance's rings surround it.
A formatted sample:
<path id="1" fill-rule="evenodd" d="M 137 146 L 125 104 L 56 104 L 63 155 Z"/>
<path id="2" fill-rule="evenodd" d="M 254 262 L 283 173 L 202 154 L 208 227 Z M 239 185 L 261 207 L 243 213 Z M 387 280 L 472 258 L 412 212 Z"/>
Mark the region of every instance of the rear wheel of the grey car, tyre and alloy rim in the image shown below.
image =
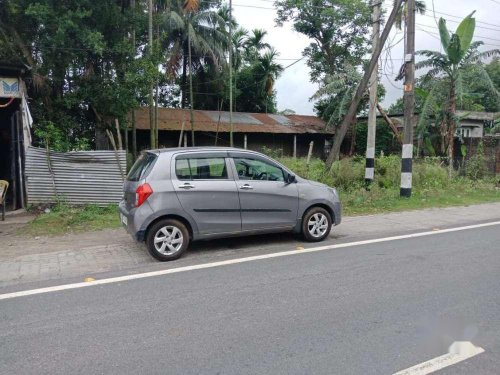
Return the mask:
<path id="1" fill-rule="evenodd" d="M 149 228 L 146 246 L 151 256 L 165 262 L 180 258 L 188 248 L 189 240 L 189 231 L 182 222 L 164 219 Z"/>

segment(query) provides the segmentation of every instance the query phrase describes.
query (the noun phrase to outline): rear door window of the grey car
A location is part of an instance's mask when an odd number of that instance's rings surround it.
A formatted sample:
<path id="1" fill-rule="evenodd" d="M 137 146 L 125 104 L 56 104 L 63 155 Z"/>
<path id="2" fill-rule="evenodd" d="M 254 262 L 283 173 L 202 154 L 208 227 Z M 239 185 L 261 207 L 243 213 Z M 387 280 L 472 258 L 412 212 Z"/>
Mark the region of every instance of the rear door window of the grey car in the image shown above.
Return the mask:
<path id="1" fill-rule="evenodd" d="M 175 174 L 179 180 L 227 179 L 224 158 L 176 159 Z"/>

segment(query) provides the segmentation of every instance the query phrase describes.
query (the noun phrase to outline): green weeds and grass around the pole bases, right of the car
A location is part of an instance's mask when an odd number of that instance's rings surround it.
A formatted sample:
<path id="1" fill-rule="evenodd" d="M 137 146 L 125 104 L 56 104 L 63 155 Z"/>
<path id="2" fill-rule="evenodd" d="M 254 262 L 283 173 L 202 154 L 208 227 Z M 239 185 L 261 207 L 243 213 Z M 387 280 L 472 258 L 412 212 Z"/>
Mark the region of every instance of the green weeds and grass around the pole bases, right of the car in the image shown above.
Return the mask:
<path id="1" fill-rule="evenodd" d="M 337 161 L 330 171 L 319 159 L 311 160 L 309 165 L 304 158 L 279 160 L 301 177 L 336 187 L 347 216 L 500 201 L 500 181 L 487 175 L 484 160 L 451 178 L 445 158 L 415 160 L 409 199 L 399 196 L 401 159 L 396 155 L 375 161 L 375 182 L 370 189 L 364 183 L 363 157 Z"/>

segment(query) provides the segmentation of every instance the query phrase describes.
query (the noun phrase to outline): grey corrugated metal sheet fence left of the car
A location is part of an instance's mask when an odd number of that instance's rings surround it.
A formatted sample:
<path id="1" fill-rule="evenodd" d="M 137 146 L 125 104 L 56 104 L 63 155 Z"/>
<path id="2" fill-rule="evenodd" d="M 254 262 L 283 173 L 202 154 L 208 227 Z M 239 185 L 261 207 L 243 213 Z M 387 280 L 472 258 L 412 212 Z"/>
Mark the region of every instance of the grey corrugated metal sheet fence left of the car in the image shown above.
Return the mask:
<path id="1" fill-rule="evenodd" d="M 25 165 L 28 204 L 108 204 L 122 197 L 125 151 L 47 153 L 29 147 Z"/>

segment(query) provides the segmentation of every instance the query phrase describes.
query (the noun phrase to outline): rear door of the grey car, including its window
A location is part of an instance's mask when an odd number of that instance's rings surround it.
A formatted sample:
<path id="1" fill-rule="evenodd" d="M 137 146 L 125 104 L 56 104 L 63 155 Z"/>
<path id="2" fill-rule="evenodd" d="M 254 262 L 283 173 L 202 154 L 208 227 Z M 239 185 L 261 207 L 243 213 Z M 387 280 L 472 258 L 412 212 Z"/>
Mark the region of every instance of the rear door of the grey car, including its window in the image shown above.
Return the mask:
<path id="1" fill-rule="evenodd" d="M 202 235 L 241 231 L 240 201 L 226 153 L 174 156 L 172 183 Z"/>

